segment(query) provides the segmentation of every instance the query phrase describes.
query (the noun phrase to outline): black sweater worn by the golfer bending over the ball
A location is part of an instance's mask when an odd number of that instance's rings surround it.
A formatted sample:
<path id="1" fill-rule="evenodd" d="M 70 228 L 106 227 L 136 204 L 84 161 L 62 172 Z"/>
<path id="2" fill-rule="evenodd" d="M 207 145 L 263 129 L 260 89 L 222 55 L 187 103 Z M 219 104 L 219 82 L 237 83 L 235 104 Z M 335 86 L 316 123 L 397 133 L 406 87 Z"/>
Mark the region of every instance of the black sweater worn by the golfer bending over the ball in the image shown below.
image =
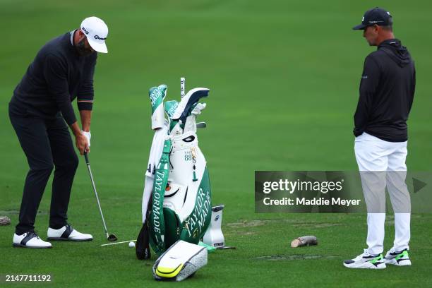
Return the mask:
<path id="1" fill-rule="evenodd" d="M 71 104 L 76 97 L 78 109 L 92 109 L 97 52 L 79 56 L 72 44 L 73 33 L 54 38 L 37 53 L 13 91 L 10 107 L 14 114 L 51 118 L 61 112 L 71 125 L 76 122 Z"/>

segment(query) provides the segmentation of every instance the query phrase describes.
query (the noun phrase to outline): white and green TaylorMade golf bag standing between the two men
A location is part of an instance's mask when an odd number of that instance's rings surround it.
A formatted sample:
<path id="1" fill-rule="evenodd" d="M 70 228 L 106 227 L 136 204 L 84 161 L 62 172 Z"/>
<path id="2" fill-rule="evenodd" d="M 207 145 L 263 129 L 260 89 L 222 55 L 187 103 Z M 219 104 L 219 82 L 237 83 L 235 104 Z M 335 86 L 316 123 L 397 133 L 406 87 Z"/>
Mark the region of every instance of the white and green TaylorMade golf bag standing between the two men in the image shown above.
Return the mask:
<path id="1" fill-rule="evenodd" d="M 156 125 L 152 121 L 152 128 L 158 126 L 158 129 L 153 138 L 145 181 L 146 186 L 152 181 L 151 196 L 148 195 L 150 189 L 146 191 L 145 188 L 143 227 L 136 245 L 136 255 L 140 259 L 150 258 L 149 244 L 157 255 L 179 240 L 198 244 L 208 229 L 212 214 L 208 169 L 196 135 L 196 116 L 205 108 L 205 104 L 198 101 L 207 97 L 209 90 L 195 88 L 179 103 L 166 102 L 164 111 L 169 120 L 163 121 L 162 126 L 161 116 L 154 115 L 161 109 L 153 107 L 153 103 L 163 105 L 159 99 L 162 97 L 163 100 L 166 90 L 165 85 L 150 89 L 152 119 L 159 122 Z M 165 134 L 161 136 L 161 133 Z M 158 152 L 159 155 L 152 155 Z M 160 157 L 157 164 L 155 157 Z"/>

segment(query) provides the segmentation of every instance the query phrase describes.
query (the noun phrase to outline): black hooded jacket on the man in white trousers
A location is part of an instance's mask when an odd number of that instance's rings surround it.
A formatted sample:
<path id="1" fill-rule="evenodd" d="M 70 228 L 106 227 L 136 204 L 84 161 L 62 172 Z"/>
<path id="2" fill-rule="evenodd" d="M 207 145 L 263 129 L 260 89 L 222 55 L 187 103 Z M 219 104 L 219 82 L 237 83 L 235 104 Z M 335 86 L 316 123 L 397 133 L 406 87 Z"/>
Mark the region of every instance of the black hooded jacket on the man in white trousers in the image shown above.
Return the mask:
<path id="1" fill-rule="evenodd" d="M 415 86 L 414 61 L 407 48 L 397 39 L 383 41 L 364 61 L 354 136 L 366 132 L 385 141 L 406 141 Z"/>

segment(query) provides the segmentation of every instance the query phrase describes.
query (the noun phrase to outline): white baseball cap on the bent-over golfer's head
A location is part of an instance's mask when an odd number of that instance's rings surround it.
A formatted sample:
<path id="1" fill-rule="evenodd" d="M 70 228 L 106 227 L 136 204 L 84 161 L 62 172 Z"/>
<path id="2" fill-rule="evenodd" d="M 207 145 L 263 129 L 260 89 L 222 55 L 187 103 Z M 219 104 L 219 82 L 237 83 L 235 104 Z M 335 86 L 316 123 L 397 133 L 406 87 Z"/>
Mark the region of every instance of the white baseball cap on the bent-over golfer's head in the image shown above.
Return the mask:
<path id="1" fill-rule="evenodd" d="M 85 37 L 87 37 L 88 44 L 96 52 L 108 53 L 105 39 L 108 36 L 108 26 L 104 21 L 97 17 L 85 18 L 81 22 L 81 31 L 83 31 Z"/>

